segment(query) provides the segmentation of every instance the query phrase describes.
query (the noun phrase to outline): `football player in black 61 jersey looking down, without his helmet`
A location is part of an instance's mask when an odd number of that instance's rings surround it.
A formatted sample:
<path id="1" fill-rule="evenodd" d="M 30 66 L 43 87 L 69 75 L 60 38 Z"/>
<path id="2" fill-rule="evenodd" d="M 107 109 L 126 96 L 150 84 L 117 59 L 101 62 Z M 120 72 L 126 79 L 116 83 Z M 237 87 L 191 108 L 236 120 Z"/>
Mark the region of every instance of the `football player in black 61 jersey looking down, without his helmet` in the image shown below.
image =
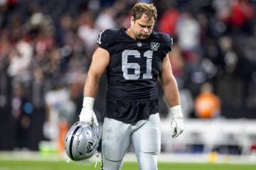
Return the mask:
<path id="1" fill-rule="evenodd" d="M 172 39 L 154 33 L 156 7 L 134 5 L 128 29 L 108 29 L 100 33 L 97 50 L 85 81 L 80 121 L 97 124 L 93 103 L 99 80 L 107 71 L 107 103 L 102 130 L 102 169 L 118 170 L 130 145 L 139 169 L 157 169 L 161 129 L 157 79 L 161 78 L 173 120 L 171 135 L 183 132 L 183 114 L 176 79 L 168 53 Z"/>

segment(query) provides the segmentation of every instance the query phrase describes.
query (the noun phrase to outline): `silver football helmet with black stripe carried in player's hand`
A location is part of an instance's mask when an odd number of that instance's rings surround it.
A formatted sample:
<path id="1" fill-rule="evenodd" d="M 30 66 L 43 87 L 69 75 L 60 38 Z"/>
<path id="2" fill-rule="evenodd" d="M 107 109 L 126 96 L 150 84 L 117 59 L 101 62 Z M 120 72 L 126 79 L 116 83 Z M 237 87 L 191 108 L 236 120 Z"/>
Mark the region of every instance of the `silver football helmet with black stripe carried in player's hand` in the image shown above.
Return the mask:
<path id="1" fill-rule="evenodd" d="M 65 152 L 73 161 L 88 159 L 96 152 L 99 141 L 99 127 L 78 122 L 68 130 L 65 137 Z"/>

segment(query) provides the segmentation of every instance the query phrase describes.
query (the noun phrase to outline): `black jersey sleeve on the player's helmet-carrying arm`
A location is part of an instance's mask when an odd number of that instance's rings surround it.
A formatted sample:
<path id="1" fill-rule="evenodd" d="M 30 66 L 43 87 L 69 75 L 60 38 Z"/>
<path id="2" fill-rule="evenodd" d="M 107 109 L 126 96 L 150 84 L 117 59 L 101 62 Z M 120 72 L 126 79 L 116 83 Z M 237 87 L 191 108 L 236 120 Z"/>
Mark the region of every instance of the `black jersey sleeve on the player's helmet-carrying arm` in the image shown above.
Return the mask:
<path id="1" fill-rule="evenodd" d="M 112 40 L 113 35 L 111 30 L 103 30 L 97 39 L 97 44 L 99 47 L 104 48 L 108 52 L 112 53 Z"/>

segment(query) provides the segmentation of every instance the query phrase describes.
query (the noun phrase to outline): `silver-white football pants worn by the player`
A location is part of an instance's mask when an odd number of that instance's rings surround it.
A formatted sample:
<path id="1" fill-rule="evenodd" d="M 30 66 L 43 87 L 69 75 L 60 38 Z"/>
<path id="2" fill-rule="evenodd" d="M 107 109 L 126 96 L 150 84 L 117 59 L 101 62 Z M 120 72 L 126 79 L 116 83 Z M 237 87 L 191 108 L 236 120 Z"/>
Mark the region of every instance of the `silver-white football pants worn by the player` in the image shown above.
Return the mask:
<path id="1" fill-rule="evenodd" d="M 134 147 L 139 169 L 156 170 L 161 149 L 159 113 L 148 120 L 127 124 L 105 118 L 102 131 L 102 170 L 122 168 L 124 154 L 130 145 Z"/>

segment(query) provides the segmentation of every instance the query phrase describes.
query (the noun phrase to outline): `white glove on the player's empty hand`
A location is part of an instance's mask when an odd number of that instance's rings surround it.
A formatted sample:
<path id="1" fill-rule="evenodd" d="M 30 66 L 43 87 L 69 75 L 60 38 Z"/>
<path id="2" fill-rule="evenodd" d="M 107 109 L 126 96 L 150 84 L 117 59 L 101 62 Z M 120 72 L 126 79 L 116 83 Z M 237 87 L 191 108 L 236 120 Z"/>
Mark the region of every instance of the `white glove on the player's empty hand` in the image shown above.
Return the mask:
<path id="1" fill-rule="evenodd" d="M 183 114 L 181 105 L 170 108 L 173 118 L 171 120 L 171 137 L 178 137 L 183 132 Z"/>

